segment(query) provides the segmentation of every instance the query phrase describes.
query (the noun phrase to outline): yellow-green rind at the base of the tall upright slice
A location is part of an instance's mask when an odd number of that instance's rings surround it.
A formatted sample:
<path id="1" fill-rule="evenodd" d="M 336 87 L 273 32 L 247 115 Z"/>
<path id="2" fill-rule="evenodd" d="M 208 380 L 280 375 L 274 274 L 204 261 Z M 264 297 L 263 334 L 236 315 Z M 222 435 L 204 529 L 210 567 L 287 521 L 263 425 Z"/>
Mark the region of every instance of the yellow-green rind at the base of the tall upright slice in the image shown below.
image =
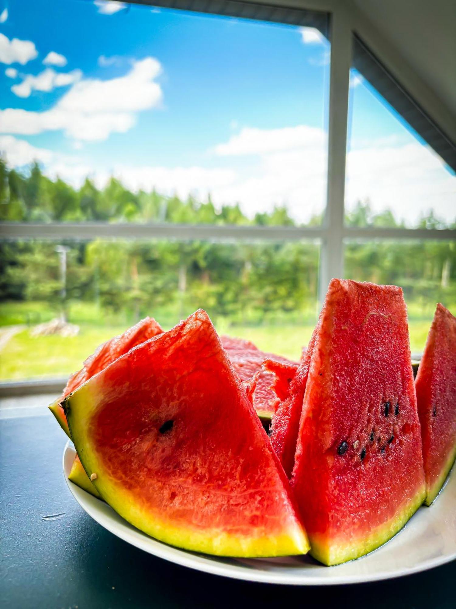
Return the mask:
<path id="1" fill-rule="evenodd" d="M 425 498 L 426 487 L 423 484 L 416 491 L 413 499 L 407 502 L 402 509 L 398 510 L 395 516 L 387 523 L 374 529 L 367 538 L 351 540 L 349 543 L 347 543 L 347 540 L 341 539 L 339 544 L 332 541 L 329 545 L 323 538 L 312 535 L 310 554 L 323 563 L 323 565 L 328 566 L 340 565 L 340 563 L 346 563 L 348 560 L 361 558 L 394 537 L 406 525 L 407 521 L 412 518 L 416 510 L 423 505 Z"/>

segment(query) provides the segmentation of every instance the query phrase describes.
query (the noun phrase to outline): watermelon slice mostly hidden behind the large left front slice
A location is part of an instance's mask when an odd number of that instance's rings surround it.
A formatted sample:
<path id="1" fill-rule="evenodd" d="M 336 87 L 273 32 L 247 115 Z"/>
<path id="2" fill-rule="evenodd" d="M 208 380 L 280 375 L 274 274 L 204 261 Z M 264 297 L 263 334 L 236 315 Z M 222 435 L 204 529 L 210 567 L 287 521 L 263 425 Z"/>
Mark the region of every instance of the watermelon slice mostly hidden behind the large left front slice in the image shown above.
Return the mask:
<path id="1" fill-rule="evenodd" d="M 89 378 L 92 378 L 92 376 L 96 375 L 100 370 L 106 368 L 106 366 L 111 364 L 117 357 L 120 357 L 124 353 L 130 351 L 131 348 L 136 347 L 136 345 L 139 345 L 145 340 L 148 340 L 157 334 L 161 334 L 162 332 L 163 330 L 159 323 L 151 317 L 146 317 L 135 326 L 126 330 L 123 334 L 114 336 L 111 340 L 100 345 L 95 353 L 86 359 L 81 370 L 70 376 L 60 398 L 49 406 L 49 410 L 69 438 L 71 438 L 71 435 L 63 408 L 60 406 L 61 401 L 72 391 L 80 387 L 80 385 L 88 381 Z"/>

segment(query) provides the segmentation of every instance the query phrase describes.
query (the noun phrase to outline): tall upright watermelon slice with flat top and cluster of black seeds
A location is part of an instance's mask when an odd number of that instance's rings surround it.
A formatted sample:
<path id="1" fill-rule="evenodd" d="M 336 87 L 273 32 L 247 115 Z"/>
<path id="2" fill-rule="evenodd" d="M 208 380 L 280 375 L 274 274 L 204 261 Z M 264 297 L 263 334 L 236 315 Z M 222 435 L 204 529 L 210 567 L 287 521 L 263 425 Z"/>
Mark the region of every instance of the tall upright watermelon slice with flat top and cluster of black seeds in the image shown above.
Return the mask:
<path id="1" fill-rule="evenodd" d="M 385 543 L 423 503 L 399 287 L 331 281 L 310 359 L 292 487 L 311 552 L 326 565 Z"/>

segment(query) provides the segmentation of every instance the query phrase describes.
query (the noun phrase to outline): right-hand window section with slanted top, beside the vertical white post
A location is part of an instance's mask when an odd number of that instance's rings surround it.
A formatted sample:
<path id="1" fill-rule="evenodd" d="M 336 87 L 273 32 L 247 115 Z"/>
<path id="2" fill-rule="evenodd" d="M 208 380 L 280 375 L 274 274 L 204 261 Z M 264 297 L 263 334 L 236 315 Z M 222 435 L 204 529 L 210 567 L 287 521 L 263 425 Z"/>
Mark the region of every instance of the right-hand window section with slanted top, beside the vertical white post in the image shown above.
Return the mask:
<path id="1" fill-rule="evenodd" d="M 404 241 L 368 239 L 368 232 L 364 239 L 345 239 L 345 275 L 402 287 L 411 348 L 420 353 L 436 303 L 456 309 L 455 242 L 431 240 L 456 227 L 455 172 L 436 152 L 451 161 L 451 150 L 359 37 L 353 38 L 353 63 L 362 72 L 350 71 L 344 222 L 355 232 L 390 230 Z M 407 240 L 414 236 L 410 228 L 429 241 Z"/>

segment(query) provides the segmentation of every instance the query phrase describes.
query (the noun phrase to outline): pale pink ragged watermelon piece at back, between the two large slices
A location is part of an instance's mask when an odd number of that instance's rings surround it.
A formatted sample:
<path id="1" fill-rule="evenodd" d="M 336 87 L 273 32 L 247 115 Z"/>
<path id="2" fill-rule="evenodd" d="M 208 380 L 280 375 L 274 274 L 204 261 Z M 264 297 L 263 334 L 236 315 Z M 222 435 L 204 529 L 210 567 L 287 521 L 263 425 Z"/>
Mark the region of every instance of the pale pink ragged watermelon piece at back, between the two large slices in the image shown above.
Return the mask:
<path id="1" fill-rule="evenodd" d="M 253 405 L 258 417 L 271 420 L 278 403 L 273 385 L 280 386 L 274 374 L 280 379 L 285 378 L 289 383 L 296 373 L 297 362 L 272 353 L 264 353 L 249 341 L 232 339 L 229 336 L 221 337 L 221 341 L 241 381 L 250 382 L 255 373 L 259 373 L 252 394 Z M 263 369 L 264 361 L 268 361 L 269 370 Z"/>

